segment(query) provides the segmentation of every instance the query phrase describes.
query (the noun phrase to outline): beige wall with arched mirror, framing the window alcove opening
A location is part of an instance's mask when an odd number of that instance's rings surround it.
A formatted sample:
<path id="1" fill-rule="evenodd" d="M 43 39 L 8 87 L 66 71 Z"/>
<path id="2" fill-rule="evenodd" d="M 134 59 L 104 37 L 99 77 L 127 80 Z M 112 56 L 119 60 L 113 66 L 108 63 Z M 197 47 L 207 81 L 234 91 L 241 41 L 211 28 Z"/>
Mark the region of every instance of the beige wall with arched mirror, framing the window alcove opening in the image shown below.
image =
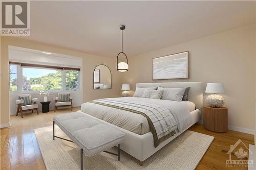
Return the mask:
<path id="1" fill-rule="evenodd" d="M 121 73 L 116 71 L 116 60 L 72 51 L 67 48 L 52 46 L 50 44 L 29 41 L 16 37 L 1 37 L 1 125 L 9 123 L 9 76 L 8 76 L 8 45 L 31 48 L 34 50 L 66 54 L 82 58 L 82 101 L 87 102 L 98 98 L 120 96 Z M 99 64 L 108 65 L 112 71 L 112 89 L 93 90 L 93 70 Z"/>

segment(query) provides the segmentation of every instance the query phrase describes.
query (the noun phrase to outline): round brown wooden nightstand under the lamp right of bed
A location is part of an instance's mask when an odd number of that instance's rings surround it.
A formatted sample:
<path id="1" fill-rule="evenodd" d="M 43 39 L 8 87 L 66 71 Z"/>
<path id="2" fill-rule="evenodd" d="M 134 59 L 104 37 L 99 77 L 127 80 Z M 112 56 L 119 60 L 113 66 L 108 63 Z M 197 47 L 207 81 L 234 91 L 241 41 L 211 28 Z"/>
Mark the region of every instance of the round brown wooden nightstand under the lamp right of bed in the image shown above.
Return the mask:
<path id="1" fill-rule="evenodd" d="M 227 108 L 204 106 L 204 128 L 214 132 L 227 132 Z"/>

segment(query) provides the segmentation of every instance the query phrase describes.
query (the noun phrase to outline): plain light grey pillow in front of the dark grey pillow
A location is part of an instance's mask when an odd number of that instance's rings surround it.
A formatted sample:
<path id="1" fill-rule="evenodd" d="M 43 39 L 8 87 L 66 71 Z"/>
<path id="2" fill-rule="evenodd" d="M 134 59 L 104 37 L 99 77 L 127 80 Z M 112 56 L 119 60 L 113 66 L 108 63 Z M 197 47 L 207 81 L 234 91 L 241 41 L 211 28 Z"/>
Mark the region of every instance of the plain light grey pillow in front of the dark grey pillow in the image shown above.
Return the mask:
<path id="1" fill-rule="evenodd" d="M 186 87 L 184 88 L 158 88 L 158 90 L 163 89 L 163 95 L 161 99 L 170 101 L 182 101 Z"/>

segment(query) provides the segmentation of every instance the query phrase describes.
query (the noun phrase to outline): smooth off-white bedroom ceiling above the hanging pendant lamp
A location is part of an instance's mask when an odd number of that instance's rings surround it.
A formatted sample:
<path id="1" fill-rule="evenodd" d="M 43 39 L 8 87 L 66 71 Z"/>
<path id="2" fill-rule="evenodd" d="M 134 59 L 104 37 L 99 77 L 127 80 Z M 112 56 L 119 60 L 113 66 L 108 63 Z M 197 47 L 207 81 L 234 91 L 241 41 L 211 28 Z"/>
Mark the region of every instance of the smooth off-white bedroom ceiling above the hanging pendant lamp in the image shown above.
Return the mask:
<path id="1" fill-rule="evenodd" d="M 252 1 L 31 1 L 31 36 L 22 38 L 116 57 L 123 24 L 131 57 L 253 22 Z"/>

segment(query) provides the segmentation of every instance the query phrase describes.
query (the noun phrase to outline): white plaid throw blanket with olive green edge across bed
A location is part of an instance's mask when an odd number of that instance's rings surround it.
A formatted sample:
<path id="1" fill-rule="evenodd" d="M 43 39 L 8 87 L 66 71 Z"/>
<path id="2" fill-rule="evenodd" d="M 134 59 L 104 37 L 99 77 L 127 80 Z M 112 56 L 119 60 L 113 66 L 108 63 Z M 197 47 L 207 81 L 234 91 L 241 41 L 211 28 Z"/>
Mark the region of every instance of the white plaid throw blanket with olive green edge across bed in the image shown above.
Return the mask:
<path id="1" fill-rule="evenodd" d="M 155 148 L 160 142 L 173 136 L 177 129 L 177 123 L 172 113 L 169 109 L 160 105 L 149 105 L 143 102 L 128 102 L 120 99 L 100 99 L 91 101 L 90 103 L 126 110 L 146 117 L 153 134 Z"/>

